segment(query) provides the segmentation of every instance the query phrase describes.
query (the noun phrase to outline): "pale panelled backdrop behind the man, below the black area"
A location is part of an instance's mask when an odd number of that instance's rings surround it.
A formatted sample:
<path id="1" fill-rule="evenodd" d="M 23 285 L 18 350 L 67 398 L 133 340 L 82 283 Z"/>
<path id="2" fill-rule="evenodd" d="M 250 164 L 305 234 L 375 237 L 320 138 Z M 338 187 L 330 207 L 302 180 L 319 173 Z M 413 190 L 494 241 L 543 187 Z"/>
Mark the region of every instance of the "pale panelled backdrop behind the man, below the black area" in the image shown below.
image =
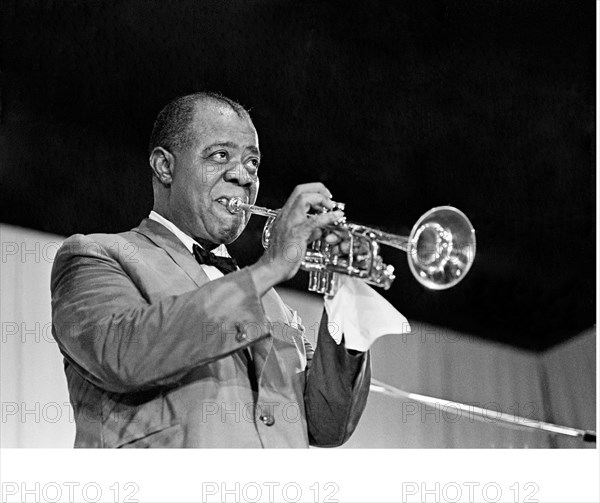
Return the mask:
<path id="1" fill-rule="evenodd" d="M 63 238 L 0 225 L 2 447 L 71 447 L 74 423 L 62 358 L 50 330 L 50 269 Z M 398 286 L 399 287 L 399 286 Z M 318 296 L 280 290 L 316 333 Z M 590 329 L 542 354 L 411 322 L 411 334 L 385 336 L 372 349 L 373 377 L 441 398 L 422 406 L 371 393 L 345 447 L 593 447 L 577 439 L 515 431 L 491 413 L 478 422 L 447 400 L 497 412 L 596 429 L 596 340 Z"/>

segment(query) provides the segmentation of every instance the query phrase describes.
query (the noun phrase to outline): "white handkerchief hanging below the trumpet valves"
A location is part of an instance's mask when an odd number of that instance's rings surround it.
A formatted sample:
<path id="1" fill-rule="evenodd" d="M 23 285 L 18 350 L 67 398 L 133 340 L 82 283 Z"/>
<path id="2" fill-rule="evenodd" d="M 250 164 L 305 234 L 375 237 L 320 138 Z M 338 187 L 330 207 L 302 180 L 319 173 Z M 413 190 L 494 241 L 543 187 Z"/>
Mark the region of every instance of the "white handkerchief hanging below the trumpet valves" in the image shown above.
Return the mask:
<path id="1" fill-rule="evenodd" d="M 347 349 L 367 351 L 382 335 L 410 332 L 407 319 L 364 281 L 346 275 L 339 281 L 335 296 L 325 299 L 329 332 L 338 344 L 343 334 Z"/>

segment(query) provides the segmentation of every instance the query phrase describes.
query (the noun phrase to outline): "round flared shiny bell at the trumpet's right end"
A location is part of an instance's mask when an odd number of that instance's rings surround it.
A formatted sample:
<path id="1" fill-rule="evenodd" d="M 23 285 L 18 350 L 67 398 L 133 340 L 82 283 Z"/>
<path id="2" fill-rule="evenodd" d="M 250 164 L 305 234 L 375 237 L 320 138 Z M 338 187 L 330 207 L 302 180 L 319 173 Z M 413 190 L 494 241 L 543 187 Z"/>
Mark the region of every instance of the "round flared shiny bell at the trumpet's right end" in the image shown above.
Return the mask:
<path id="1" fill-rule="evenodd" d="M 467 216 L 452 206 L 425 213 L 408 238 L 408 265 L 415 278 L 432 290 L 459 283 L 475 259 L 475 229 Z"/>

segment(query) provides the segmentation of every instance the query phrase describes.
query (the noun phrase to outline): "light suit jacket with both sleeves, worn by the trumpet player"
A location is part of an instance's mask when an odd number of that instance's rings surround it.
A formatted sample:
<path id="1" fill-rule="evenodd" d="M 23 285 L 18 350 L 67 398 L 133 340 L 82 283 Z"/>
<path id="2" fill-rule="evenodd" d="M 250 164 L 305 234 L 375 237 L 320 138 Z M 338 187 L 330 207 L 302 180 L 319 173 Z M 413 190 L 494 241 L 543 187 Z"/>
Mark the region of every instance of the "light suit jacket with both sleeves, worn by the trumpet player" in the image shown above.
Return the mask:
<path id="1" fill-rule="evenodd" d="M 51 290 L 76 447 L 338 446 L 364 410 L 369 354 L 325 314 L 313 350 L 274 290 L 247 269 L 209 281 L 152 220 L 67 239 Z"/>

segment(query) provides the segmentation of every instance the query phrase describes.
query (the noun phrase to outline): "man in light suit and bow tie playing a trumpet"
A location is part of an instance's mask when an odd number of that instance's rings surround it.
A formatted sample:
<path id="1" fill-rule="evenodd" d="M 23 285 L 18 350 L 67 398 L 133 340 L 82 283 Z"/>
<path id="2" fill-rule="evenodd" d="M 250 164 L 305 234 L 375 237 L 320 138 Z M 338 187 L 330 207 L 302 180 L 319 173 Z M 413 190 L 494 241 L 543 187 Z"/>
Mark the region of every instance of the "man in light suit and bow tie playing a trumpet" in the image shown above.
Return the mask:
<path id="1" fill-rule="evenodd" d="M 333 203 L 323 184 L 297 186 L 269 250 L 237 268 L 225 245 L 250 215 L 227 203 L 255 203 L 259 164 L 241 105 L 214 93 L 178 98 L 150 140 L 149 217 L 121 234 L 72 236 L 58 252 L 53 334 L 76 447 L 338 446 L 354 431 L 368 351 L 335 341 L 325 312 L 313 349 L 273 290 L 343 213 L 324 211 Z"/>

